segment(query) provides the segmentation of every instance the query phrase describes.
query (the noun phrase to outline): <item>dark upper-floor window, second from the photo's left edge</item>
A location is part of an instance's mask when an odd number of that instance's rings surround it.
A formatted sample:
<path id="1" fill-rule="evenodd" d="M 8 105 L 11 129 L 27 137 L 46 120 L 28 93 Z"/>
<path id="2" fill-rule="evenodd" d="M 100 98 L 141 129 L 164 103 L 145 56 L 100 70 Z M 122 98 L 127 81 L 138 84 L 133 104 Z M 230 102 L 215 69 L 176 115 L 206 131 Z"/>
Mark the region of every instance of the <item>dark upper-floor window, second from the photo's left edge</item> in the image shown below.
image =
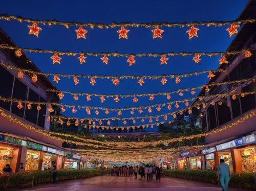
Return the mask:
<path id="1" fill-rule="evenodd" d="M 27 86 L 23 82 L 15 78 L 12 98 L 26 100 L 26 97 L 27 97 Z M 21 109 L 17 108 L 17 105 L 18 105 L 17 102 L 12 103 L 11 112 L 19 117 L 24 118 L 25 104 L 23 103 L 24 107 Z"/>

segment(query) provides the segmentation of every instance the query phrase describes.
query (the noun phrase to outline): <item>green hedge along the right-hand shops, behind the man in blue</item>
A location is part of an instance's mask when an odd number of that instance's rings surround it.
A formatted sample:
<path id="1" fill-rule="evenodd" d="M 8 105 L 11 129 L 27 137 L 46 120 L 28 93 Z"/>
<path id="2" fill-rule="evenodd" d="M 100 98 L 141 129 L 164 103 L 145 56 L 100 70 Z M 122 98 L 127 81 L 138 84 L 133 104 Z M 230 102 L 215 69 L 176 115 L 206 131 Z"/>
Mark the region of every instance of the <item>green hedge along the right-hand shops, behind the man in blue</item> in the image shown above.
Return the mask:
<path id="1" fill-rule="evenodd" d="M 217 171 L 209 170 L 163 170 L 164 175 L 183 178 L 188 180 L 196 180 L 212 184 L 218 184 Z M 229 187 L 236 188 L 254 188 L 254 175 L 252 173 L 232 173 L 229 181 Z"/>

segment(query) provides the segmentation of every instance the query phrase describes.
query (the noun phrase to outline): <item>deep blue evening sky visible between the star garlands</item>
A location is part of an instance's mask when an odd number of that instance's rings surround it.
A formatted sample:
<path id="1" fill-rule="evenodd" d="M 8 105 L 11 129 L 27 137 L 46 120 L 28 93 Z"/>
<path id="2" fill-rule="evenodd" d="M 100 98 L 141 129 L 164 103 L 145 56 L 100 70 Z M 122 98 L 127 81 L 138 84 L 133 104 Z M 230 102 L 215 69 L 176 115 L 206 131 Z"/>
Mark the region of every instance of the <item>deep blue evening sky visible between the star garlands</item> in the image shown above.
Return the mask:
<path id="1" fill-rule="evenodd" d="M 44 2 L 44 3 L 42 3 Z M 158 3 L 159 2 L 159 3 Z M 161 3 L 160 3 L 161 2 Z M 1 3 L 0 13 L 9 13 L 35 19 L 57 19 L 61 21 L 84 21 L 84 22 L 105 22 L 111 23 L 121 21 L 131 22 L 152 22 L 152 21 L 210 21 L 210 20 L 234 20 L 243 10 L 247 1 L 245 0 L 226 0 L 226 1 L 4 1 Z M 43 26 L 39 24 L 42 31 L 39 32 L 39 38 L 29 35 L 28 25 L 31 23 L 0 20 L 0 27 L 14 40 L 18 46 L 38 47 L 40 49 L 60 50 L 60 51 L 90 51 L 90 52 L 121 52 L 121 53 L 161 53 L 161 52 L 180 52 L 180 51 L 198 51 L 212 52 L 225 51 L 230 44 L 234 35 L 229 38 L 225 30 L 228 26 L 223 27 L 206 27 L 199 26 L 198 38 L 194 37 L 189 40 L 186 31 L 188 27 L 160 27 L 164 30 L 162 39 L 153 39 L 153 28 L 131 28 L 127 27 L 130 32 L 128 39 L 118 39 L 119 28 L 114 29 L 90 29 L 86 34 L 86 40 L 76 39 L 75 29 L 70 27 L 66 29 L 63 26 Z M 218 59 L 220 56 L 212 58 L 202 56 L 198 64 L 192 59 L 193 56 L 175 56 L 169 57 L 168 65 L 160 65 L 160 57 L 136 57 L 136 64 L 129 66 L 125 57 L 110 57 L 109 64 L 106 65 L 100 60 L 101 56 L 88 56 L 86 63 L 82 65 L 77 57 L 61 56 L 61 64 L 52 64 L 50 58 L 52 54 L 44 53 L 27 53 L 31 60 L 45 72 L 51 73 L 70 73 L 70 74 L 96 74 L 96 75 L 162 75 L 162 74 L 181 74 L 191 71 L 200 71 L 204 69 L 217 69 L 219 66 Z M 52 77 L 50 77 L 52 81 Z M 207 83 L 207 74 L 194 76 L 190 78 L 181 78 L 177 85 L 175 79 L 167 79 L 164 86 L 159 80 L 144 80 L 145 84 L 140 86 L 138 80 L 120 80 L 120 84 L 114 86 L 111 80 L 96 79 L 96 84 L 92 86 L 89 79 L 79 78 L 79 84 L 74 85 L 73 79 L 61 78 L 59 84 L 54 84 L 61 90 L 83 91 L 91 93 L 143 93 L 157 91 L 172 91 L 179 88 L 198 86 Z M 199 90 L 196 90 L 196 94 Z M 191 98 L 190 92 L 184 92 L 184 96 L 172 94 L 172 100 L 181 100 Z M 79 97 L 79 101 L 74 101 L 73 96 L 65 94 L 62 102 L 65 104 L 80 104 L 99 107 L 130 107 L 151 105 L 154 103 L 164 103 L 168 100 L 165 96 L 157 96 L 154 101 L 148 100 L 148 97 L 138 98 L 139 101 L 134 103 L 132 98 L 120 99 L 116 103 L 114 98 L 106 99 L 103 104 L 99 98 L 92 97 L 90 102 L 86 97 Z M 180 106 L 185 107 L 184 104 Z M 173 105 L 172 111 L 176 108 Z M 64 114 L 76 117 L 96 117 L 95 110 L 92 114 L 87 115 L 85 109 L 78 109 L 76 114 L 72 114 L 71 109 L 67 109 Z M 167 107 L 162 108 L 161 112 L 153 109 L 151 115 L 169 112 Z M 122 112 L 125 117 L 148 115 L 147 110 L 143 113 L 135 112 L 131 115 L 130 111 Z M 103 111 L 97 117 L 118 116 L 117 112 L 110 112 L 105 115 Z M 173 117 L 169 116 L 168 120 Z M 162 121 L 163 118 L 159 118 Z M 140 122 L 140 120 L 136 120 Z M 155 123 L 155 120 L 153 120 Z M 148 124 L 148 120 L 145 120 Z M 122 122 L 120 122 L 122 125 Z M 139 124 L 139 123 L 136 123 Z M 141 124 L 141 123 L 140 123 Z M 157 128 L 150 130 L 156 130 Z"/>

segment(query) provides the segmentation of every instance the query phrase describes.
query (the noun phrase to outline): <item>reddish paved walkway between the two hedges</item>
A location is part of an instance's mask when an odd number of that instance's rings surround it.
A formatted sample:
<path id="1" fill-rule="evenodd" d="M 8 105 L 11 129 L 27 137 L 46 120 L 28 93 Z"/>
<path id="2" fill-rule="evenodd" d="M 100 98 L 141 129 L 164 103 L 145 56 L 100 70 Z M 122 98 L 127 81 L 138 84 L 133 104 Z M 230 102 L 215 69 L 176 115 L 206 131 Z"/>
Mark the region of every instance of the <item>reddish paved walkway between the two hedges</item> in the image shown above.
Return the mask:
<path id="1" fill-rule="evenodd" d="M 178 178 L 165 177 L 161 179 L 161 183 L 154 181 L 147 182 L 144 180 L 134 180 L 134 177 L 115 177 L 115 176 L 98 176 L 80 180 L 62 181 L 58 184 L 39 184 L 34 188 L 27 188 L 26 190 L 34 191 L 144 191 L 144 190 L 161 190 L 161 191 L 206 191 L 206 190 L 219 190 L 221 186 L 216 184 L 209 184 L 204 182 L 190 181 Z M 229 188 L 229 191 L 242 191 L 246 189 Z"/>

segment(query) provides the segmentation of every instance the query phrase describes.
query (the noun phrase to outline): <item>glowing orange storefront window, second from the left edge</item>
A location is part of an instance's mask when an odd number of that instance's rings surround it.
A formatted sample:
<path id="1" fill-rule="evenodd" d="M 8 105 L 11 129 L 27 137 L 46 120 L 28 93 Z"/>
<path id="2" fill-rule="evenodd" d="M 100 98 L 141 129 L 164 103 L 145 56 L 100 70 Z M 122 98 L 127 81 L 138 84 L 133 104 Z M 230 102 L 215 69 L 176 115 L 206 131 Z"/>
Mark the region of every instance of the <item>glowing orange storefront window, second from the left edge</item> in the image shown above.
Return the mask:
<path id="1" fill-rule="evenodd" d="M 36 171 L 39 166 L 40 151 L 29 150 L 27 151 L 27 162 L 25 166 L 26 171 Z"/>

